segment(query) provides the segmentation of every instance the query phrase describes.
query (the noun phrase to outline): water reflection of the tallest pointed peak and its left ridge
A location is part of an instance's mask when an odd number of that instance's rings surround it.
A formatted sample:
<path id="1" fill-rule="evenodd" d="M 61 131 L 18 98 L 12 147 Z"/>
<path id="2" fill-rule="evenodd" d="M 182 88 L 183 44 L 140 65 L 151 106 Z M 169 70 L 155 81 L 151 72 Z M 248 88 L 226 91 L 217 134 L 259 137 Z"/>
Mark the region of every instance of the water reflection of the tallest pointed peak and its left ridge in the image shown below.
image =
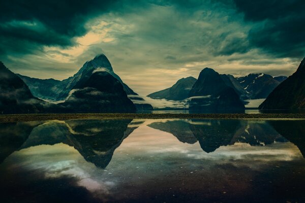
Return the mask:
<path id="1" fill-rule="evenodd" d="M 33 129 L 21 149 L 64 143 L 74 147 L 86 161 L 104 168 L 114 150 L 136 127 L 131 120 L 49 121 Z"/>

